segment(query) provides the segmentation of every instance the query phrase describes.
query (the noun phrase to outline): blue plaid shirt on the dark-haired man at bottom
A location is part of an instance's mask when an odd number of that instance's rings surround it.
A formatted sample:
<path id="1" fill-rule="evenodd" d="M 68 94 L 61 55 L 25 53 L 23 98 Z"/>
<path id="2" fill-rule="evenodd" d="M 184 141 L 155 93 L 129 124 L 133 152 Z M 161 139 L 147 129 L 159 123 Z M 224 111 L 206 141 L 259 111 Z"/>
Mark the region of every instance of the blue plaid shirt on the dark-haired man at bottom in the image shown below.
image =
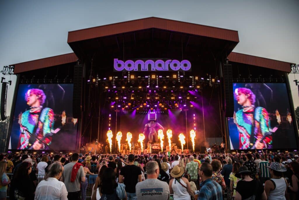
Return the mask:
<path id="1" fill-rule="evenodd" d="M 209 199 L 209 200 L 222 200 L 222 188 L 211 178 L 205 180 L 200 184 L 199 196 L 197 200 Z"/>

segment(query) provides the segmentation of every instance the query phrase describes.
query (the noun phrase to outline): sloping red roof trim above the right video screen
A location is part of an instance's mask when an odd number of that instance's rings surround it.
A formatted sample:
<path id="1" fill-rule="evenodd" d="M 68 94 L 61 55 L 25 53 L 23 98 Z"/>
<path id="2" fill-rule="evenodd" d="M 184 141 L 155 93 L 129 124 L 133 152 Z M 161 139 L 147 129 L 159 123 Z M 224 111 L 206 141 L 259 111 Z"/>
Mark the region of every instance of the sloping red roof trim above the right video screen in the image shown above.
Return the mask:
<path id="1" fill-rule="evenodd" d="M 280 60 L 273 60 L 269 58 L 257 57 L 247 54 L 241 54 L 237 52 L 231 52 L 228 55 L 229 61 L 236 63 L 243 63 L 248 65 L 254 65 L 259 67 L 266 67 L 269 69 L 280 70 L 283 72 L 291 72 L 291 66 L 293 63 L 288 63 Z"/>

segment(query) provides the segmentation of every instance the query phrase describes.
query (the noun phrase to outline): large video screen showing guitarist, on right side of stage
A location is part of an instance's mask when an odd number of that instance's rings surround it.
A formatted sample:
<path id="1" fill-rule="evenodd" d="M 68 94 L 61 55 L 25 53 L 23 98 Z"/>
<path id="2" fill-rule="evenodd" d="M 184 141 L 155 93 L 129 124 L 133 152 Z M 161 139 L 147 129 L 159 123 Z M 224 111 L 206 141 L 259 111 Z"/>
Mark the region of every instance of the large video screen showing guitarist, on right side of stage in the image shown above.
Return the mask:
<path id="1" fill-rule="evenodd" d="M 231 149 L 297 148 L 286 84 L 234 83 L 233 92 Z"/>

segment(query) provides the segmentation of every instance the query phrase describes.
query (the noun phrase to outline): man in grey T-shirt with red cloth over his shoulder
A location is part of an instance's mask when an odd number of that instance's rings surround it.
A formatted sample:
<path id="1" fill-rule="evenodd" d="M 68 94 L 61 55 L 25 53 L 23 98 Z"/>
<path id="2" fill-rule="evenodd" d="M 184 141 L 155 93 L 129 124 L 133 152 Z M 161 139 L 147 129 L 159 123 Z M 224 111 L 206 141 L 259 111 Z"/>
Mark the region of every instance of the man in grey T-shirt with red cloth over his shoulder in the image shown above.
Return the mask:
<path id="1" fill-rule="evenodd" d="M 83 166 L 78 163 L 79 154 L 74 153 L 71 157 L 71 163 L 64 166 L 61 180 L 64 182 L 66 190 L 68 191 L 68 199 L 80 199 L 80 181 L 85 182 L 85 174 Z M 75 166 L 76 165 L 76 166 Z M 76 174 L 77 172 L 77 174 Z M 71 182 L 71 176 L 75 176 L 74 182 Z"/>

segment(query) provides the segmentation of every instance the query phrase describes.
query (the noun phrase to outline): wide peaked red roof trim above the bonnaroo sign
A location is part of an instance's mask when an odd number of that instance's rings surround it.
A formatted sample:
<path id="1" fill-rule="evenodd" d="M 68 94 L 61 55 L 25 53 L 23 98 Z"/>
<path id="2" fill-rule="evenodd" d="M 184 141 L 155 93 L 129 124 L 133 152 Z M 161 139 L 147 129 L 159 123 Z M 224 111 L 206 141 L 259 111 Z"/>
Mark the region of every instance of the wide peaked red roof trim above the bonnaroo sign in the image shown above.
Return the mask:
<path id="1" fill-rule="evenodd" d="M 212 37 L 222 40 L 239 42 L 238 31 L 224 28 L 199 25 L 189 22 L 181 22 L 171 19 L 149 17 L 132 21 L 119 22 L 109 25 L 86 28 L 68 32 L 68 43 L 88 40 L 109 35 L 138 31 L 148 28 L 158 28 L 168 31 L 182 32 L 187 34 Z"/>

